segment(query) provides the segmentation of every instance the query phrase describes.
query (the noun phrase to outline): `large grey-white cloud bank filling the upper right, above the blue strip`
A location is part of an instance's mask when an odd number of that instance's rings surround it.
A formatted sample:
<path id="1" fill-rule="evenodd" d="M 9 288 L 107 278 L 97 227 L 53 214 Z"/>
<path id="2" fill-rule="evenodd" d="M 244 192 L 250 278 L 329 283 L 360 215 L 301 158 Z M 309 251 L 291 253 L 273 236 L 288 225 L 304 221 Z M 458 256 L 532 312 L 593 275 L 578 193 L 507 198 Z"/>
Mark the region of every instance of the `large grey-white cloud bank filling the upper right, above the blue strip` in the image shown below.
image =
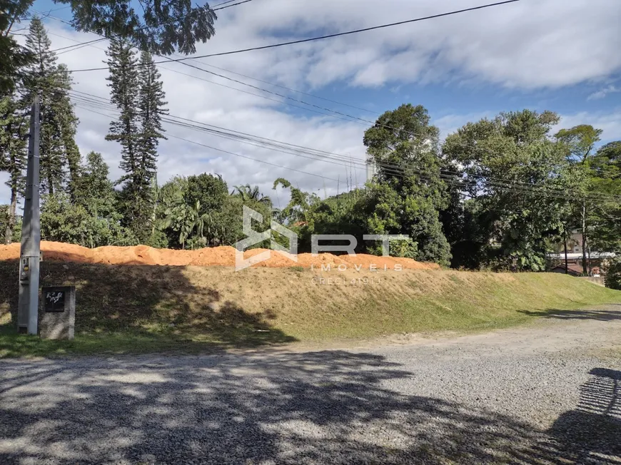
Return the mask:
<path id="1" fill-rule="evenodd" d="M 199 53 L 443 13 L 478 0 L 264 0 L 221 14 L 216 38 Z M 509 88 L 559 87 L 610 76 L 617 53 L 618 0 L 522 0 L 415 24 L 300 46 L 216 57 L 233 68 L 267 73 L 288 84 L 320 87 L 335 80 L 355 86 L 387 82 L 445 82 L 475 77 Z M 278 34 L 281 33 L 281 34 Z M 231 37 L 235 37 L 231 41 Z M 396 57 L 396 58 L 395 58 Z M 210 58 L 211 61 L 212 58 Z M 248 59 L 248 62 L 246 62 Z M 273 63 L 278 63 L 275 68 Z M 286 66 L 288 63 L 288 66 Z M 268 66 L 265 66 L 265 65 Z M 286 70 L 286 71 L 283 71 Z"/>

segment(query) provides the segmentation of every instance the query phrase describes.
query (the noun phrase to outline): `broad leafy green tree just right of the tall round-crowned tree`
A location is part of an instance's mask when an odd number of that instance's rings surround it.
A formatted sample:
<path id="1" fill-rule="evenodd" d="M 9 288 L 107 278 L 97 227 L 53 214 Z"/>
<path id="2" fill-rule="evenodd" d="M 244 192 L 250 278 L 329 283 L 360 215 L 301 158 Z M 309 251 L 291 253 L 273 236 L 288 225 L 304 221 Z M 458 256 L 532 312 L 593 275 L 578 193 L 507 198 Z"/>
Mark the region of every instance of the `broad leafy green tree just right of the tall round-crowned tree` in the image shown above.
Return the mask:
<path id="1" fill-rule="evenodd" d="M 572 173 L 562 145 L 550 140 L 555 113 L 501 113 L 468 123 L 445 141 L 443 153 L 462 166 L 473 198 L 459 265 L 501 269 L 545 269 L 547 238 L 566 230 L 570 203 L 541 195 L 570 188 Z M 536 184 L 540 195 L 520 185 Z M 463 245 L 475 244 L 472 255 Z"/>

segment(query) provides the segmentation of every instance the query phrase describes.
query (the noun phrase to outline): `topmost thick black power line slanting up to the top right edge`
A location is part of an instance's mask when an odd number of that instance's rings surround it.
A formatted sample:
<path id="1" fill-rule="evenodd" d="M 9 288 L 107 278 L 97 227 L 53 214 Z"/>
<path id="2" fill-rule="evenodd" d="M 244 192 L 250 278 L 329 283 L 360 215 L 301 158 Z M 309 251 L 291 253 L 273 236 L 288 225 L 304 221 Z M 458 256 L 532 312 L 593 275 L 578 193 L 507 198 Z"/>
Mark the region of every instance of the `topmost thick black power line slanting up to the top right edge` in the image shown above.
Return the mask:
<path id="1" fill-rule="evenodd" d="M 428 19 L 442 18 L 444 16 L 451 16 L 451 15 L 455 15 L 455 14 L 466 13 L 468 11 L 475 11 L 475 10 L 490 8 L 492 6 L 500 6 L 500 5 L 506 5 L 506 4 L 513 4 L 513 3 L 518 2 L 518 1 L 521 1 L 521 0 L 505 0 L 505 1 L 500 1 L 498 3 L 495 3 L 495 4 L 473 6 L 472 8 L 467 8 L 467 9 L 462 9 L 462 10 L 455 10 L 455 11 L 449 11 L 448 13 L 434 14 L 434 15 L 431 15 L 431 16 L 424 16 L 423 18 L 408 19 L 407 21 L 398 21 L 396 23 L 382 24 L 381 26 L 373 26 L 373 27 L 368 27 L 368 28 L 364 28 L 364 29 L 356 29 L 355 31 L 339 32 L 337 34 L 328 34 L 326 36 L 311 37 L 310 39 L 299 39 L 297 41 L 281 42 L 280 44 L 271 44 L 271 45 L 251 47 L 251 48 L 242 48 L 240 50 L 224 51 L 224 52 L 219 52 L 219 53 L 209 53 L 208 55 L 199 55 L 199 56 L 193 56 L 193 57 L 186 56 L 186 57 L 182 57 L 182 58 L 171 58 L 170 61 L 186 61 L 186 60 L 196 59 L 196 58 L 209 58 L 211 56 L 233 55 L 235 53 L 243 53 L 243 52 L 247 52 L 247 51 L 266 50 L 267 48 L 283 47 L 283 46 L 294 45 L 294 44 L 304 44 L 304 43 L 310 42 L 310 41 L 318 41 L 318 40 L 323 40 L 323 39 L 331 39 L 333 37 L 348 36 L 350 34 L 359 34 L 361 32 L 374 31 L 376 29 L 384 29 L 384 28 L 393 27 L 393 26 L 400 26 L 402 24 L 410 24 L 410 23 L 415 23 L 415 22 L 418 22 L 418 21 L 426 21 Z M 166 62 L 165 61 L 156 61 L 156 62 L 154 62 L 154 64 L 159 64 L 159 63 L 166 63 Z M 141 63 L 136 63 L 136 64 L 131 65 L 131 66 L 141 66 Z M 107 70 L 109 68 L 110 68 L 109 66 L 105 66 L 105 67 L 102 67 L 102 68 L 73 69 L 73 70 L 67 70 L 66 72 L 68 72 L 68 73 L 81 73 L 81 72 L 86 72 L 86 71 L 104 71 L 104 70 Z"/>

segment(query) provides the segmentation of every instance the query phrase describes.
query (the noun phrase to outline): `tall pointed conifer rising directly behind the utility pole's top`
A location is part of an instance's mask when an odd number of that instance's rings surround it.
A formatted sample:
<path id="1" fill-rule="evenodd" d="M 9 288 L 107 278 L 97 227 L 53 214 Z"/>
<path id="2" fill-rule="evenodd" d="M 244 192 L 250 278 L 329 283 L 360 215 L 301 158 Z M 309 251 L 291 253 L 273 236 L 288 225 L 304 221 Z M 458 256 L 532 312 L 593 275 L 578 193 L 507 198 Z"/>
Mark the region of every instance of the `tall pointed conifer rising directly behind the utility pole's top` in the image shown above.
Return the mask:
<path id="1" fill-rule="evenodd" d="M 71 78 L 66 66 L 56 64 L 56 54 L 51 51 L 51 41 L 41 22 L 31 20 L 26 36 L 26 48 L 34 54 L 34 63 L 25 68 L 24 98 L 22 104 L 29 108 L 34 96 L 41 101 L 41 192 L 54 195 L 66 187 L 66 168 L 79 159 L 75 143 L 78 119 L 69 98 Z M 70 170 L 71 171 L 71 170 Z M 78 173 L 70 172 L 70 183 Z"/>

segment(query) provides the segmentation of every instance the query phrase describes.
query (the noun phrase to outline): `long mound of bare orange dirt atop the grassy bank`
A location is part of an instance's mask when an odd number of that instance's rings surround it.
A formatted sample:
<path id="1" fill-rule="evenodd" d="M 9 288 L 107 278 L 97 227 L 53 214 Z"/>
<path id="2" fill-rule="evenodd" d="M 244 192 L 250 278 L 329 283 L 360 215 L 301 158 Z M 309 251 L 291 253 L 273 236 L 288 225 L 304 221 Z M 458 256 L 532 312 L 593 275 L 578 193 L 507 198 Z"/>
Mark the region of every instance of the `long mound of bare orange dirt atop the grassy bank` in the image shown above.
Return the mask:
<path id="1" fill-rule="evenodd" d="M 19 244 L 0 245 L 0 260 L 17 260 L 19 258 Z M 244 258 L 256 257 L 267 249 L 253 249 L 244 252 Z M 108 245 L 89 249 L 80 245 L 65 244 L 64 242 L 41 242 L 41 252 L 44 260 L 55 262 L 103 263 L 106 265 L 168 265 L 168 266 L 235 266 L 235 248 L 230 246 L 206 247 L 199 250 L 170 250 L 155 249 L 147 245 L 135 247 L 116 247 Z M 293 260 L 297 257 L 297 261 Z M 410 258 L 376 257 L 375 255 L 333 255 L 321 253 L 313 256 L 310 253 L 301 253 L 293 257 L 285 257 L 271 251 L 267 260 L 258 262 L 253 267 L 305 267 L 314 265 L 318 270 L 321 266 L 330 265 L 332 268 L 339 265 L 353 269 L 362 267 L 368 270 L 375 265 L 378 270 L 394 270 L 395 265 L 401 265 L 410 270 L 438 270 L 435 263 L 423 263 Z"/>

